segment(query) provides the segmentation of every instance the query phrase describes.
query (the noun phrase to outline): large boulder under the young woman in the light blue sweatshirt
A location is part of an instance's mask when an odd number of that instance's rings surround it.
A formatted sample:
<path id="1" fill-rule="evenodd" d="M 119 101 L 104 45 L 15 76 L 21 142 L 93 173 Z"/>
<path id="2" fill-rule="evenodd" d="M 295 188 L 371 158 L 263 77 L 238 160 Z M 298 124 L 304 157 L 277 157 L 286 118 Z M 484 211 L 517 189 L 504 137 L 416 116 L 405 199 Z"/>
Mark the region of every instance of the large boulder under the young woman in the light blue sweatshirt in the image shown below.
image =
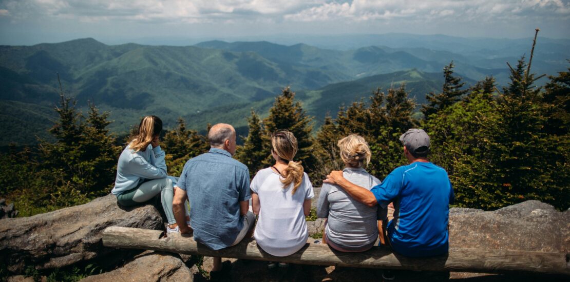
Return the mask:
<path id="1" fill-rule="evenodd" d="M 96 257 L 119 253 L 103 247 L 101 230 L 108 226 L 162 228 L 161 213 L 153 205 L 117 205 L 114 195 L 85 205 L 0 220 L 0 264 L 13 273 L 28 265 L 37 269 L 59 268 Z M 117 258 L 120 255 L 113 255 Z"/>

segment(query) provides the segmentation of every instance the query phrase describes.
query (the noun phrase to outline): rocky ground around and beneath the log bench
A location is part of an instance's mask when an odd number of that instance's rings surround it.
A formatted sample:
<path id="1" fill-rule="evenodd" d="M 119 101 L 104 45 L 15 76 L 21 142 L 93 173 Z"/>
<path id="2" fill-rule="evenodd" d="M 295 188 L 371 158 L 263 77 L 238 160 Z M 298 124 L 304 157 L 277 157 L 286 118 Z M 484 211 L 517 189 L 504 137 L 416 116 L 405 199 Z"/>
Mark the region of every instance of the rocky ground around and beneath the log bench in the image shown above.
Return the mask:
<path id="1" fill-rule="evenodd" d="M 317 191 L 318 193 L 318 191 Z M 316 201 L 315 201 L 316 202 Z M 207 281 L 211 258 L 153 251 L 114 250 L 101 244 L 108 226 L 164 228 L 160 203 L 124 209 L 112 195 L 86 205 L 28 218 L 0 220 L 0 264 L 7 281 L 30 281 L 27 269 L 99 265 L 104 272 L 85 281 Z M 496 211 L 450 210 L 450 247 L 562 252 L 570 250 L 570 210 L 527 201 Z M 308 222 L 310 234 L 321 234 L 322 220 Z M 312 241 L 312 239 L 310 239 Z M 381 270 L 290 265 L 267 269 L 264 261 L 229 259 L 233 281 L 381 281 Z M 439 281 L 447 273 L 397 271 L 395 281 Z M 2 278 L 2 277 L 0 277 Z M 487 275 L 451 272 L 452 281 L 568 281 L 568 277 L 525 273 Z M 42 279 L 42 277 L 36 277 Z M 47 277 L 43 277 L 47 280 Z"/>

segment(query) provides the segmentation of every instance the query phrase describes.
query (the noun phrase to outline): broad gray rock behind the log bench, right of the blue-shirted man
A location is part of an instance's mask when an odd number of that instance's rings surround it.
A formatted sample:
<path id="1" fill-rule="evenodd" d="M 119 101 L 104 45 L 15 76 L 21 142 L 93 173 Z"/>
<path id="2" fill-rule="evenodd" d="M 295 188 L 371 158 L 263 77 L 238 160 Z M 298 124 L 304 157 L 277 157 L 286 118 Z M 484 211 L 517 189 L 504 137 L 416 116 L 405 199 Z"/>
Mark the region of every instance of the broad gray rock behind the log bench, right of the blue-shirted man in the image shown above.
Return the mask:
<path id="1" fill-rule="evenodd" d="M 570 251 L 570 214 L 539 201 L 496 211 L 451 209 L 450 247 L 541 252 Z"/>

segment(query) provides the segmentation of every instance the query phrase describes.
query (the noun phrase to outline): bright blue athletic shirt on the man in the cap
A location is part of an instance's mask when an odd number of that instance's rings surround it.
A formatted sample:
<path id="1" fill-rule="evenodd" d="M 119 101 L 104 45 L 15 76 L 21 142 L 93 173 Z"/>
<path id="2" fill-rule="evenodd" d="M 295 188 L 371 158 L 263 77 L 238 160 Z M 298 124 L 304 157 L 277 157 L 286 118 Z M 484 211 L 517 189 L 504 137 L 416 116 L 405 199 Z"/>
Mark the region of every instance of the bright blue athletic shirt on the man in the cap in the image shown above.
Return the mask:
<path id="1" fill-rule="evenodd" d="M 454 194 L 447 171 L 431 162 L 413 162 L 394 169 L 372 188 L 378 205 L 394 202 L 388 223 L 390 244 L 405 256 L 435 256 L 449 250 L 449 204 Z"/>

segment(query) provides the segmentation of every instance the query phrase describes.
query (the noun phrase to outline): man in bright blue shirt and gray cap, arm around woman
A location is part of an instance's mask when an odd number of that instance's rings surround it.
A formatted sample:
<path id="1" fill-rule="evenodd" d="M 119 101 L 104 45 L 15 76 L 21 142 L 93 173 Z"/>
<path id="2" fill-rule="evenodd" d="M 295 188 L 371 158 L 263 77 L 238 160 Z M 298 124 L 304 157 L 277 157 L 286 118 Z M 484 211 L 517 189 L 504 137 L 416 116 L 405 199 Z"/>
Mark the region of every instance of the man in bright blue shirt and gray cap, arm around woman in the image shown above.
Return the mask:
<path id="1" fill-rule="evenodd" d="M 435 256 L 449 249 L 449 204 L 454 194 L 447 172 L 431 164 L 429 136 L 422 129 L 402 134 L 404 155 L 409 165 L 394 169 L 380 185 L 371 190 L 354 185 L 342 171 L 332 171 L 326 183 L 342 187 L 351 197 L 368 206 L 386 209 L 394 203 L 394 217 L 388 223 L 388 239 L 398 254 Z"/>

